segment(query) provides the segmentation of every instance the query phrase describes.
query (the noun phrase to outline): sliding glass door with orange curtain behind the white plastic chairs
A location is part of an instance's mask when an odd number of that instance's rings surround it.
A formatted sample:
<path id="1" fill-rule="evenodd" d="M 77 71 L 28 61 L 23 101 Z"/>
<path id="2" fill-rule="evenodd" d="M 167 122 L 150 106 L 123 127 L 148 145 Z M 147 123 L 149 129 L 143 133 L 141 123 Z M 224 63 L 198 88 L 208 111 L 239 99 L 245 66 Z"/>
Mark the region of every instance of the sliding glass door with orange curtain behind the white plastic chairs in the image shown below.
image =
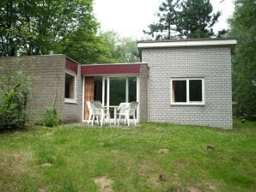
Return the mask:
<path id="1" fill-rule="evenodd" d="M 89 81 L 91 80 L 91 81 Z M 84 118 L 88 117 L 86 101 L 100 100 L 104 106 L 118 106 L 120 103 L 138 101 L 139 79 L 137 76 L 88 76 L 84 85 Z M 90 97 L 88 97 L 88 95 Z M 110 108 L 113 117 L 113 107 Z"/>

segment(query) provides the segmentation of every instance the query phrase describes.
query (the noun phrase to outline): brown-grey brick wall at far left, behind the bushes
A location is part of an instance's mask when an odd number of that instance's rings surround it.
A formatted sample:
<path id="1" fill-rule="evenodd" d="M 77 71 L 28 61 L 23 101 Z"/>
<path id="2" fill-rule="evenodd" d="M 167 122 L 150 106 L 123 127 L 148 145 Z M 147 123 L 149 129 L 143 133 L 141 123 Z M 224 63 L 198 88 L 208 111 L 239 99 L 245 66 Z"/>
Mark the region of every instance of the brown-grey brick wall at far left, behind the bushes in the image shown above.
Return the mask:
<path id="1" fill-rule="evenodd" d="M 64 55 L 33 57 L 0 57 L 0 65 L 11 70 L 22 70 L 32 78 L 32 95 L 27 110 L 32 121 L 39 120 L 51 106 L 55 95 L 55 107 L 62 117 L 64 107 Z M 3 70 L 0 70 L 3 73 Z"/>

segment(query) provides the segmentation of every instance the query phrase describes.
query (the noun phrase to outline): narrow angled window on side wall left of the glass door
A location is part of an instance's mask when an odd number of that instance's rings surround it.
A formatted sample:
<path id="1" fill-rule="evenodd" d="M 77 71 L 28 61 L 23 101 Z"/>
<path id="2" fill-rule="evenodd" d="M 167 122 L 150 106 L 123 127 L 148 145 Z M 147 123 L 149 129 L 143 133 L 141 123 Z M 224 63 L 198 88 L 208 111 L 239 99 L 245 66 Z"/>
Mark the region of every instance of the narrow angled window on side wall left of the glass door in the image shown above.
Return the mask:
<path id="1" fill-rule="evenodd" d="M 76 100 L 76 75 L 65 73 L 65 101 Z"/>

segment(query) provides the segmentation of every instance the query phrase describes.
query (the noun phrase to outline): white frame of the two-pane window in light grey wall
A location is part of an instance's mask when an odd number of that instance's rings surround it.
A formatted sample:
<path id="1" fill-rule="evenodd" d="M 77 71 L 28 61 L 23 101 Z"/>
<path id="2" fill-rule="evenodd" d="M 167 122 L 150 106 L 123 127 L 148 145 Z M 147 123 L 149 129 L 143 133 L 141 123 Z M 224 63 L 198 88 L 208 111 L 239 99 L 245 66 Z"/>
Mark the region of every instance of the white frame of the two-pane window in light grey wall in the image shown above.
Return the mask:
<path id="1" fill-rule="evenodd" d="M 189 100 L 189 81 L 190 80 L 201 80 L 202 81 L 202 101 L 190 101 Z M 174 102 L 173 101 L 173 81 L 186 81 L 186 102 Z M 171 105 L 204 105 L 204 78 L 171 78 Z"/>

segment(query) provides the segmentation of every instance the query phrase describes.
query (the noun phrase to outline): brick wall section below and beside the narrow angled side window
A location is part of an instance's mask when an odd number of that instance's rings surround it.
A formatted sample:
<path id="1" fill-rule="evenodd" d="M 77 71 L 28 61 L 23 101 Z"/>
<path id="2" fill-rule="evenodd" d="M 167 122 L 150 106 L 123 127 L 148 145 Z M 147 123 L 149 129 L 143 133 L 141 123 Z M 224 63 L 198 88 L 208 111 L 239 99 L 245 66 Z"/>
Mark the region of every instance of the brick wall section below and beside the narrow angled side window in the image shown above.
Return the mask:
<path id="1" fill-rule="evenodd" d="M 64 93 L 64 84 L 62 92 Z M 80 64 L 76 74 L 76 103 L 64 103 L 62 119 L 64 123 L 82 122 L 82 76 Z"/>

